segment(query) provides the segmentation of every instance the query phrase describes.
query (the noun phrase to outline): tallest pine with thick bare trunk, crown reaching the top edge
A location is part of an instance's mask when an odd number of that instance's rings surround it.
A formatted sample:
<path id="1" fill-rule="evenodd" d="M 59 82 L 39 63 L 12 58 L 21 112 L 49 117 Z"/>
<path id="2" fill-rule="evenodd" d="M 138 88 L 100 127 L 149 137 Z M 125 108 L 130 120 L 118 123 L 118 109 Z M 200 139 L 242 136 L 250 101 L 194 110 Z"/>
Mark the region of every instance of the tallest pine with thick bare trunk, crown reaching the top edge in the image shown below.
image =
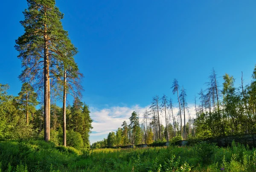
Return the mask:
<path id="1" fill-rule="evenodd" d="M 61 19 L 64 15 L 55 6 L 55 0 L 27 0 L 28 8 L 21 21 L 24 34 L 16 40 L 23 71 L 20 79 L 33 81 L 44 87 L 44 140 L 50 140 L 50 75 L 59 60 L 63 42 L 68 40 Z"/>

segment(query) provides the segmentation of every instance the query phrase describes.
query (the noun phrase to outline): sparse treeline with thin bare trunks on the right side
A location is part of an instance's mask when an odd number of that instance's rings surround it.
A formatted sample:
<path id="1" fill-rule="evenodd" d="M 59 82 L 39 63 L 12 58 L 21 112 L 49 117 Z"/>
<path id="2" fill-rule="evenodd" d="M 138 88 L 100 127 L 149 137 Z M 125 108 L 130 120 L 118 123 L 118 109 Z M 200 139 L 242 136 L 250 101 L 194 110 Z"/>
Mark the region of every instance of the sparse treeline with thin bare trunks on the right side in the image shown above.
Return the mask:
<path id="1" fill-rule="evenodd" d="M 172 93 L 176 97 L 178 113 L 174 114 L 173 100 L 164 94 L 154 96 L 151 106 L 143 114 L 133 112 L 130 124 L 123 121 L 116 132 L 92 144 L 93 148 L 152 144 L 153 142 L 177 141 L 190 138 L 210 138 L 256 132 L 256 66 L 252 81 L 244 85 L 243 73 L 239 87 L 227 73 L 224 82 L 218 83 L 214 69 L 206 82 L 207 88 L 195 95 L 195 114 L 189 113 L 186 89 L 173 80 Z M 193 118 L 192 118 L 193 115 Z M 140 118 L 139 118 L 140 116 Z M 165 119 L 161 121 L 160 116 Z"/>

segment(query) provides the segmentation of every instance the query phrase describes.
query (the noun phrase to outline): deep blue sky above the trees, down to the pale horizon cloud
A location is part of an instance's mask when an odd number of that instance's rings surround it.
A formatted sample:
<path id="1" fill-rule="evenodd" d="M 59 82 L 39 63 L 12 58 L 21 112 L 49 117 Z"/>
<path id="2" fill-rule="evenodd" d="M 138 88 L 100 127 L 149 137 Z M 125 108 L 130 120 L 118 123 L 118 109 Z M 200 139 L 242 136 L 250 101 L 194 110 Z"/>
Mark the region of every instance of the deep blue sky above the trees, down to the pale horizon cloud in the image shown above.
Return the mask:
<path id="1" fill-rule="evenodd" d="M 23 33 L 19 21 L 27 5 L 14 0 L 2 6 L 8 8 L 0 11 L 0 83 L 8 83 L 9 93 L 17 95 L 21 68 L 14 45 Z M 246 84 L 251 80 L 255 0 L 56 0 L 56 6 L 79 50 L 75 58 L 85 76 L 82 101 L 91 107 L 97 128 L 91 142 L 110 129 L 103 124 L 109 122 L 96 122 L 99 116 L 111 121 L 120 114 L 114 130 L 131 110 L 144 110 L 154 95 L 166 93 L 176 102 L 170 90 L 174 78 L 186 88 L 189 104 L 206 87 L 213 67 L 220 85 L 225 73 L 236 78 L 237 86 L 241 71 Z"/>

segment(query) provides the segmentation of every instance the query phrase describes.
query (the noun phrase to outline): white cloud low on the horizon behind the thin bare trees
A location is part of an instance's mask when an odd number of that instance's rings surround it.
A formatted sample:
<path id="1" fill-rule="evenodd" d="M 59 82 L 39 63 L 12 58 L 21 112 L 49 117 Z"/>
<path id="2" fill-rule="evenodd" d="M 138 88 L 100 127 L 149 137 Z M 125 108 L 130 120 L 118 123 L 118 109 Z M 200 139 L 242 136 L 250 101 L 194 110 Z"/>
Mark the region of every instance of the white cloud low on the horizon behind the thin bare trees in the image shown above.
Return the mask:
<path id="1" fill-rule="evenodd" d="M 90 143 L 94 143 L 96 141 L 100 141 L 103 138 L 107 138 L 108 133 L 111 131 L 116 131 L 119 127 L 121 127 L 122 122 L 126 121 L 127 124 L 130 123 L 129 118 L 131 117 L 131 113 L 136 111 L 140 114 L 140 123 L 143 122 L 143 113 L 147 110 L 150 106 L 140 107 L 139 105 L 134 105 L 132 107 L 108 107 L 104 109 L 96 109 L 91 107 L 90 108 L 90 116 L 93 119 L 93 129 L 92 133 L 90 134 Z M 179 108 L 174 107 L 173 113 L 177 117 L 177 113 Z M 194 117 L 195 110 L 192 104 L 189 104 L 189 113 L 191 114 L 191 118 Z M 170 115 L 172 113 L 169 112 Z M 183 114 L 182 114 L 183 116 Z M 172 123 L 172 116 L 170 116 L 170 122 Z M 182 121 L 184 119 L 182 118 Z M 165 114 L 164 112 L 160 113 L 160 121 L 165 126 Z M 188 121 L 188 114 L 186 112 L 186 121 Z"/>

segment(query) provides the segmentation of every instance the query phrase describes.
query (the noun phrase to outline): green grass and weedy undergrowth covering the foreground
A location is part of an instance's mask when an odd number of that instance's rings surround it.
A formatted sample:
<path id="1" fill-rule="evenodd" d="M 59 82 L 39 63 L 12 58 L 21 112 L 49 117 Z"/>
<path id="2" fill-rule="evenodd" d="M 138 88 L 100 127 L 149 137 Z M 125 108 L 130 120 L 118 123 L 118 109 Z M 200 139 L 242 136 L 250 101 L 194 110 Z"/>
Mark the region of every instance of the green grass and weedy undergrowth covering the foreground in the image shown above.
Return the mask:
<path id="1" fill-rule="evenodd" d="M 256 149 L 232 144 L 75 149 L 44 141 L 0 142 L 0 172 L 253 172 Z"/>

